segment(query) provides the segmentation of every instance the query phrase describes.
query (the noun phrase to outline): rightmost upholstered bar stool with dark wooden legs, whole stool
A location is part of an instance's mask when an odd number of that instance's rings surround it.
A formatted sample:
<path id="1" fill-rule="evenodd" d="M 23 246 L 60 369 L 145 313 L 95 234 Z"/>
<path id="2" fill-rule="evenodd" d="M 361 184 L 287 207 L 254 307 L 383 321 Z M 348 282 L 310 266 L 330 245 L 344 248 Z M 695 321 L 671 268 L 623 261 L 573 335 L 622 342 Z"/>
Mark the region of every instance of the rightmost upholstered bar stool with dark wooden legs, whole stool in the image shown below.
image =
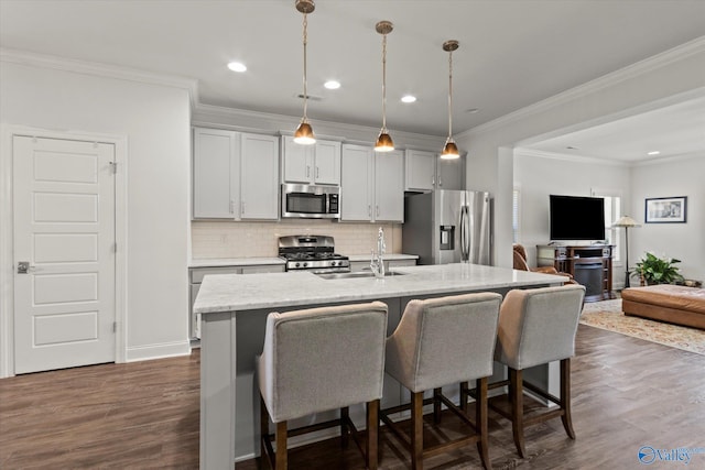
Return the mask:
<path id="1" fill-rule="evenodd" d="M 575 334 L 584 298 L 584 286 L 567 284 L 561 287 L 510 291 L 502 302 L 495 360 L 507 365 L 509 380 L 494 383 L 490 389 L 509 385 L 511 412 L 490 406 L 511 419 L 514 445 L 522 458 L 527 456 L 527 426 L 560 416 L 568 437 L 575 439 L 571 418 L 571 358 L 575 356 Z M 560 397 L 523 381 L 524 369 L 552 361 L 561 361 Z M 534 411 L 524 416 L 524 387 L 558 407 Z"/>

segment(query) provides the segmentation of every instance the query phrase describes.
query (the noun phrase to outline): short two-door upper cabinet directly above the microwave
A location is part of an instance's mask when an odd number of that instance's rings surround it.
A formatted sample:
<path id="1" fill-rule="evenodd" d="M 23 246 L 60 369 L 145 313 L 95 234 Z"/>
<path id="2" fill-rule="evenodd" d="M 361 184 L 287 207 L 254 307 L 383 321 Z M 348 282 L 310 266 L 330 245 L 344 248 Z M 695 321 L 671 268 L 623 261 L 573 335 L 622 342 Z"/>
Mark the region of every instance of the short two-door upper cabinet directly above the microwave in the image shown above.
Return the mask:
<path id="1" fill-rule="evenodd" d="M 317 140 L 301 145 L 282 138 L 282 182 L 310 185 L 340 185 L 340 142 Z"/>

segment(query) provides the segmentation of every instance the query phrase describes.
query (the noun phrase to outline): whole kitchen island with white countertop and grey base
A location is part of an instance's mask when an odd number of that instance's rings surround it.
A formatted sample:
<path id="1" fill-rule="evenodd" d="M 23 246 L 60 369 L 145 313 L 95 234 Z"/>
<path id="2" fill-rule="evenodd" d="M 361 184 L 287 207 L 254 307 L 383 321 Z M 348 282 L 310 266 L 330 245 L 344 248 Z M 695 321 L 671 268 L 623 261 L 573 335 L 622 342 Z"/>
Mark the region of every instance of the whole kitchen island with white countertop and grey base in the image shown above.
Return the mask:
<path id="1" fill-rule="evenodd" d="M 511 288 L 565 281 L 567 277 L 467 263 L 399 267 L 381 280 L 323 278 L 311 272 L 206 276 L 194 304 L 202 334 L 200 468 L 232 469 L 236 460 L 250 459 L 259 451 L 254 357 L 262 351 L 270 311 L 381 300 L 389 307 L 391 334 L 412 298 L 470 292 L 503 295 Z M 386 378 L 382 407 L 402 400 L 399 384 Z"/>

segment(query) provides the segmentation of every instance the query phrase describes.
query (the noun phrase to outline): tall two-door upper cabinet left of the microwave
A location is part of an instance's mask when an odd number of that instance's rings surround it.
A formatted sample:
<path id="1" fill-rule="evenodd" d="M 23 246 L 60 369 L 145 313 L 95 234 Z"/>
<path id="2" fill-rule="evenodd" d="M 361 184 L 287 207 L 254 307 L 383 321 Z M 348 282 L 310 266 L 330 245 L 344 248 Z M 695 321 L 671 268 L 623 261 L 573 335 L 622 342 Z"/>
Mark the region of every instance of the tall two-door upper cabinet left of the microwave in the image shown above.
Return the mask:
<path id="1" fill-rule="evenodd" d="M 279 139 L 194 129 L 195 219 L 278 220 Z"/>

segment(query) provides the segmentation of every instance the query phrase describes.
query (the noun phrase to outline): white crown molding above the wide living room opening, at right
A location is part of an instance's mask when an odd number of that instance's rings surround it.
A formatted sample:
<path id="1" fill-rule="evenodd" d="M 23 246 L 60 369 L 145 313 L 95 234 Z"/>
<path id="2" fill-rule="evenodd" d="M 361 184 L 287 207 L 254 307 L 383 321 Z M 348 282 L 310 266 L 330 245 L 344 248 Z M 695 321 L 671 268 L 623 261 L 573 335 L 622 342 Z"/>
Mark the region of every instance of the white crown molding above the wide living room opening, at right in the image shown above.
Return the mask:
<path id="1" fill-rule="evenodd" d="M 690 41 L 687 43 L 681 44 L 669 51 L 648 57 L 643 61 L 639 61 L 632 65 L 628 65 L 627 67 L 611 72 L 601 77 L 595 78 L 594 80 L 587 81 L 583 85 L 578 85 L 577 87 L 571 88 L 558 95 L 554 95 L 544 100 L 538 101 L 533 105 L 529 105 L 524 108 L 518 109 L 517 111 L 505 114 L 492 121 L 477 125 L 473 129 L 468 129 L 467 131 L 464 131 L 463 133 L 460 133 L 459 136 L 469 136 L 478 132 L 494 131 L 496 129 L 508 125 L 512 122 L 529 118 L 531 116 L 546 111 L 551 108 L 555 108 L 557 106 L 574 101 L 577 98 L 582 98 L 586 95 L 597 92 L 605 88 L 615 86 L 617 84 L 632 79 L 640 75 L 648 74 L 655 69 L 665 67 L 666 65 L 672 64 L 674 62 L 682 61 L 692 55 L 701 54 L 704 52 L 705 52 L 705 35 L 697 37 L 693 41 Z"/>

